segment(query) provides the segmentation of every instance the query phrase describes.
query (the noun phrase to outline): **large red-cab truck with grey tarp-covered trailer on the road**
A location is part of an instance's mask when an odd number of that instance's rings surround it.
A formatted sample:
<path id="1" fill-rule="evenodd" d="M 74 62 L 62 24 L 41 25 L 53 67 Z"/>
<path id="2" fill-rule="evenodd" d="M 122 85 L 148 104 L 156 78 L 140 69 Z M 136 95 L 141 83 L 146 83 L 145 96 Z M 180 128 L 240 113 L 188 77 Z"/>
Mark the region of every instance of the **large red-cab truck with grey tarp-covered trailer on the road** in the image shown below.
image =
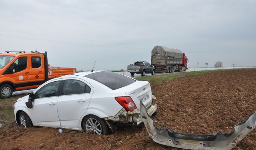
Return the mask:
<path id="1" fill-rule="evenodd" d="M 187 63 L 187 56 L 178 49 L 155 46 L 151 52 L 151 64 L 158 73 L 186 71 Z"/>

